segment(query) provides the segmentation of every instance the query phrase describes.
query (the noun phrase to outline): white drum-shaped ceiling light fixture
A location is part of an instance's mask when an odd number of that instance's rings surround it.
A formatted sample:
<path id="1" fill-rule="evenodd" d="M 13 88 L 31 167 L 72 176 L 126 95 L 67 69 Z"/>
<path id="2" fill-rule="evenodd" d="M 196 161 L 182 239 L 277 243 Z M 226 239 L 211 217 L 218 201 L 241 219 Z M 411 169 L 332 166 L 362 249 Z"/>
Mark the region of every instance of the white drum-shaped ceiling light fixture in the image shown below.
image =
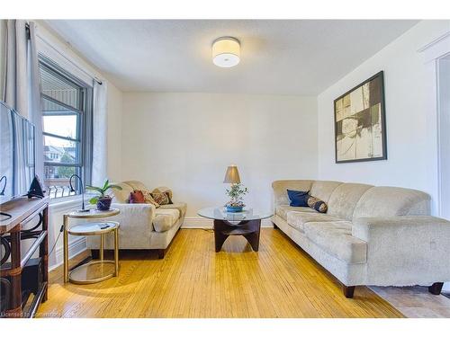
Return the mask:
<path id="1" fill-rule="evenodd" d="M 217 67 L 234 67 L 240 61 L 240 43 L 235 38 L 223 37 L 212 42 L 212 62 Z"/>

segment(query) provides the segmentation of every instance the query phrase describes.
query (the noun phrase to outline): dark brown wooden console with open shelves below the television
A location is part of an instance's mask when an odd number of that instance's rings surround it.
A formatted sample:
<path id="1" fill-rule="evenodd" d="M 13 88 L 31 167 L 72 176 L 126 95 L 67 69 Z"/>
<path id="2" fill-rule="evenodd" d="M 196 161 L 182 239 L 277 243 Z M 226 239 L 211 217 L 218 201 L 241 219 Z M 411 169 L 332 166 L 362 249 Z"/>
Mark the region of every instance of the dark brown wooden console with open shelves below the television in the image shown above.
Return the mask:
<path id="1" fill-rule="evenodd" d="M 18 198 L 0 210 L 10 216 L 0 216 L 0 317 L 33 317 L 47 300 L 49 198 Z"/>

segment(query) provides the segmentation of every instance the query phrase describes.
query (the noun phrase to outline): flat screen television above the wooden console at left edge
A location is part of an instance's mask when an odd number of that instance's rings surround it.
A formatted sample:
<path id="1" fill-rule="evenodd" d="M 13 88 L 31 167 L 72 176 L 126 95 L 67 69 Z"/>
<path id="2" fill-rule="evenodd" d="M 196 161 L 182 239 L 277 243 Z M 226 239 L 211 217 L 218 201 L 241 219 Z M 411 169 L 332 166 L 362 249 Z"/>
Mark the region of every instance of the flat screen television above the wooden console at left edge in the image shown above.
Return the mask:
<path id="1" fill-rule="evenodd" d="M 0 101 L 0 205 L 23 196 L 34 178 L 34 125 Z"/>

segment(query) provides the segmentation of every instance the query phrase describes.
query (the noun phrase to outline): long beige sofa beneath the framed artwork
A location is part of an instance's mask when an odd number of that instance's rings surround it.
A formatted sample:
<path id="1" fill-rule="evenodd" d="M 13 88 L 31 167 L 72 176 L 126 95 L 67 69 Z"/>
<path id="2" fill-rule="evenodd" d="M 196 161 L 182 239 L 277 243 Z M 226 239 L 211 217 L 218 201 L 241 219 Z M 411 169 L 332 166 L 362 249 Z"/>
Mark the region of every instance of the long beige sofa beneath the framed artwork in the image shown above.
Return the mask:
<path id="1" fill-rule="evenodd" d="M 344 285 L 429 286 L 450 280 L 450 222 L 431 217 L 428 194 L 346 182 L 276 181 L 275 227 Z M 287 189 L 310 191 L 329 210 L 290 207 Z"/>

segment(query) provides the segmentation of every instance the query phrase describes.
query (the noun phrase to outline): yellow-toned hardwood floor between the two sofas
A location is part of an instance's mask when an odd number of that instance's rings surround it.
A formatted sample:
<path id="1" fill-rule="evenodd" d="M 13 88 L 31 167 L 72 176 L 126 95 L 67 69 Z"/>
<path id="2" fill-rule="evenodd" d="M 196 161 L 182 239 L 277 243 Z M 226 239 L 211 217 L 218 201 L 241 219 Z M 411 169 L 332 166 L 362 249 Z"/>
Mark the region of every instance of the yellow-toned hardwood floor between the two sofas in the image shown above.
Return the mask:
<path id="1" fill-rule="evenodd" d="M 120 264 L 119 277 L 85 286 L 51 271 L 38 316 L 402 317 L 369 288 L 344 297 L 334 277 L 272 228 L 261 230 L 258 253 L 240 236 L 215 253 L 211 230 L 183 229 L 164 260 L 124 252 Z"/>

